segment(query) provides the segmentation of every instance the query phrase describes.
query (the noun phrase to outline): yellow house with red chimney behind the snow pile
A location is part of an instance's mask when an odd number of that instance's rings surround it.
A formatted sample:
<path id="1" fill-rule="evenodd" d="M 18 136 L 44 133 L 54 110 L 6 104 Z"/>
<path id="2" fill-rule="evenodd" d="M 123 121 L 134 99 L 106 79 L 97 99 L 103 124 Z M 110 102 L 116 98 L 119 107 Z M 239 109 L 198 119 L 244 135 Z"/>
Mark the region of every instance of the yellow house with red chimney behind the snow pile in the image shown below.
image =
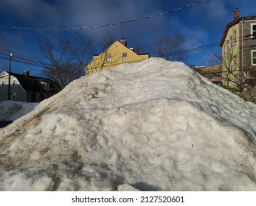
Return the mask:
<path id="1" fill-rule="evenodd" d="M 136 63 L 149 58 L 149 53 L 136 54 L 133 48 L 128 49 L 124 38 L 116 41 L 103 53 L 94 55 L 93 60 L 86 66 L 86 74 L 102 69 L 111 69 L 122 63 Z"/>

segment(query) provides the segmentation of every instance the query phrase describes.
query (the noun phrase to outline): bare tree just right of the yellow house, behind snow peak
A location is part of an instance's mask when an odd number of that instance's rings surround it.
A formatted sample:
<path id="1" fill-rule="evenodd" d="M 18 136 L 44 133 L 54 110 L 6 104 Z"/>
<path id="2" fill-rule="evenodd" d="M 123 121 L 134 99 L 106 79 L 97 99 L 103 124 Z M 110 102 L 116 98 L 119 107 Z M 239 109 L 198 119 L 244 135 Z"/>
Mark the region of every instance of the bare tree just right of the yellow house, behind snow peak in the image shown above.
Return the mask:
<path id="1" fill-rule="evenodd" d="M 155 54 L 156 57 L 162 57 L 166 60 L 184 60 L 183 43 L 186 42 L 186 39 L 180 33 L 176 35 L 163 35 L 158 40 L 153 42 L 151 47 L 152 54 Z"/>

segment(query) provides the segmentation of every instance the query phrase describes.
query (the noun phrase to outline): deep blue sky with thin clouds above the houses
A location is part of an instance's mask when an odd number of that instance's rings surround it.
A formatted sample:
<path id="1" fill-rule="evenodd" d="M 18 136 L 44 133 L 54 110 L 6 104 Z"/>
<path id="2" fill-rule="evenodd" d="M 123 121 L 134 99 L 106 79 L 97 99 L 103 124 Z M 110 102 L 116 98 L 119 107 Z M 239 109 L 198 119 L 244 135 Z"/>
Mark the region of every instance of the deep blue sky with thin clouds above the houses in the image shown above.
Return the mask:
<path id="1" fill-rule="evenodd" d="M 1 0 L 0 25 L 59 28 L 113 24 L 184 7 L 197 1 L 201 0 Z M 143 52 L 148 52 L 153 41 L 161 35 L 180 32 L 187 39 L 184 49 L 193 49 L 220 42 L 226 24 L 234 18 L 236 7 L 239 8 L 241 16 L 256 15 L 255 0 L 207 0 L 166 15 L 117 26 L 57 31 L 0 27 L 0 57 L 7 57 L 4 54 L 13 52 L 17 57 L 36 60 L 36 39 L 58 40 L 65 36 L 72 37 L 75 32 L 90 35 L 95 46 L 104 35 L 115 34 L 117 40 L 124 37 L 128 47 L 142 46 Z M 188 52 L 185 63 L 205 65 L 215 49 L 218 47 Z M 35 72 L 39 69 L 16 62 L 12 65 L 17 72 Z M 0 58 L 0 72 L 7 69 L 8 60 Z"/>

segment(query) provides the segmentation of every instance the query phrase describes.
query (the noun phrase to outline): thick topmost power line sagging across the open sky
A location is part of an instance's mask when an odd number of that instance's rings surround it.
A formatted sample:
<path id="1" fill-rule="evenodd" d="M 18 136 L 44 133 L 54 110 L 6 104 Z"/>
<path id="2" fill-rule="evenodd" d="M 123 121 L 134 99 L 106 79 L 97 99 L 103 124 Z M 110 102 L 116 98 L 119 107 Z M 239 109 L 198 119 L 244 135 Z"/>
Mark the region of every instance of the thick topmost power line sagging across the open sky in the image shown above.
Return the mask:
<path id="1" fill-rule="evenodd" d="M 143 21 L 143 20 L 146 20 L 148 18 L 158 17 L 159 15 L 166 15 L 166 14 L 169 14 L 169 13 L 176 12 L 178 10 L 183 10 L 187 7 L 193 7 L 193 6 L 196 6 L 198 4 L 202 4 L 206 1 L 208 1 L 208 0 L 196 1 L 194 3 L 187 4 L 187 5 L 184 5 L 183 7 L 178 7 L 176 9 L 169 10 L 169 11 L 166 11 L 166 12 L 157 13 L 157 14 L 153 14 L 153 15 L 148 15 L 148 16 L 145 16 L 145 17 L 142 17 L 142 18 L 136 18 L 136 19 L 129 20 L 129 21 L 120 21 L 120 22 L 117 22 L 117 23 L 114 23 L 114 24 L 103 24 L 103 25 L 81 26 L 81 27 L 62 27 L 62 28 L 41 28 L 41 27 L 22 27 L 22 26 L 0 25 L 0 28 L 4 28 L 4 29 L 24 29 L 24 30 L 72 30 L 72 29 L 94 29 L 94 28 L 106 27 L 106 26 L 117 26 L 117 25 L 120 25 L 120 24 L 128 24 L 128 23 L 134 23 L 134 22 L 137 22 L 137 21 Z"/>

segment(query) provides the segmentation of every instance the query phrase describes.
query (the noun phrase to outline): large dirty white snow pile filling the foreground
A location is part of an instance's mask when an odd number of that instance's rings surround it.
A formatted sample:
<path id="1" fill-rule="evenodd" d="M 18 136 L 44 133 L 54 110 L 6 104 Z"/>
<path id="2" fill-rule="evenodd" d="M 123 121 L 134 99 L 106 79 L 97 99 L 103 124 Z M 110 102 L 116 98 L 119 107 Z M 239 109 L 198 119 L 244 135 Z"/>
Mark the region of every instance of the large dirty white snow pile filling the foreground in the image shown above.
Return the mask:
<path id="1" fill-rule="evenodd" d="M 255 109 L 183 63 L 100 71 L 0 131 L 0 190 L 255 191 Z"/>

